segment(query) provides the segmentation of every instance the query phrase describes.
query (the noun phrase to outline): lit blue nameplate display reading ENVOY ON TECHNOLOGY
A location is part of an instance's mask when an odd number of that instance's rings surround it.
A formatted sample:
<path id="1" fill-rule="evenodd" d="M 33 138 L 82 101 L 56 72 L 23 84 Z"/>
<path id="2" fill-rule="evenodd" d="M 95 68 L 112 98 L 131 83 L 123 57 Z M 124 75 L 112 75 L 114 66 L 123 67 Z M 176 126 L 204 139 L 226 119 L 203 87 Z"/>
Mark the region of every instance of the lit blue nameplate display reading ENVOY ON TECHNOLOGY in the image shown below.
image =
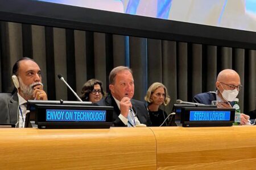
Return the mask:
<path id="1" fill-rule="evenodd" d="M 46 109 L 49 122 L 106 122 L 106 110 Z"/>

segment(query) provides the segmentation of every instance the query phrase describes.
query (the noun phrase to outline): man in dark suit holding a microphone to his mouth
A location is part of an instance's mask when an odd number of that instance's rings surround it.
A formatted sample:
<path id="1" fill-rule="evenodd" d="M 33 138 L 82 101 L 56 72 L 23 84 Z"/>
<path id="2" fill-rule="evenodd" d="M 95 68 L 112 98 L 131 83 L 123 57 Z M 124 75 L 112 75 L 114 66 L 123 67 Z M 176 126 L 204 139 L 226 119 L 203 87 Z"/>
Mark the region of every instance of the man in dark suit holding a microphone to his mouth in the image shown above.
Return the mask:
<path id="1" fill-rule="evenodd" d="M 109 74 L 109 96 L 97 104 L 113 106 L 113 126 L 151 126 L 146 106 L 143 102 L 132 99 L 134 80 L 131 69 L 116 67 Z"/>

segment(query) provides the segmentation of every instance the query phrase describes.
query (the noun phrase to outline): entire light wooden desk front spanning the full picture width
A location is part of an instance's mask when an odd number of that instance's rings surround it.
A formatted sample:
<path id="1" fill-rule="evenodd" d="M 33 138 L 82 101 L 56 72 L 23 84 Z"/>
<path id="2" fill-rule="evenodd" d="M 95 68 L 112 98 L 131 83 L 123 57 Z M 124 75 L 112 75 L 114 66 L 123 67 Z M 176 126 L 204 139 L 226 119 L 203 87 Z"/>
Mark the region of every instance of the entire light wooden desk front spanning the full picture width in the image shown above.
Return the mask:
<path id="1" fill-rule="evenodd" d="M 0 129 L 0 169 L 255 169 L 256 127 Z"/>

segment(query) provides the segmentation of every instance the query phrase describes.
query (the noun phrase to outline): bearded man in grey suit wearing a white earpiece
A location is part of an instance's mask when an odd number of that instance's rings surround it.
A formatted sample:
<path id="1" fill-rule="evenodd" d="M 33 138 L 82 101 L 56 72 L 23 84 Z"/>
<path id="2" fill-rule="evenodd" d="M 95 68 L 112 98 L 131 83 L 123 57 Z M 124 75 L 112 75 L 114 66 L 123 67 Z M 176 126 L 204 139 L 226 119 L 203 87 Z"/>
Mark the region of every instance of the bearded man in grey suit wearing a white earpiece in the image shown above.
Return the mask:
<path id="1" fill-rule="evenodd" d="M 24 127 L 28 99 L 47 100 L 43 90 L 41 71 L 34 60 L 23 57 L 13 67 L 14 90 L 0 93 L 0 123 Z"/>

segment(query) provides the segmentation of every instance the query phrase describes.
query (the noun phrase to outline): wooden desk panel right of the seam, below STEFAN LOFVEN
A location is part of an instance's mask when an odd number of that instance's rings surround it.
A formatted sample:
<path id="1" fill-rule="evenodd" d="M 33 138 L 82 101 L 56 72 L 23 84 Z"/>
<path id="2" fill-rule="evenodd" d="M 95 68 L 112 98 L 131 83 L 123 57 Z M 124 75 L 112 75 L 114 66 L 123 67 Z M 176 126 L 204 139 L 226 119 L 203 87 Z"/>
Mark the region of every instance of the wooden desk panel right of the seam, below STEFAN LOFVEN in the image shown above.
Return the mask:
<path id="1" fill-rule="evenodd" d="M 151 127 L 158 169 L 255 169 L 256 127 Z"/>

